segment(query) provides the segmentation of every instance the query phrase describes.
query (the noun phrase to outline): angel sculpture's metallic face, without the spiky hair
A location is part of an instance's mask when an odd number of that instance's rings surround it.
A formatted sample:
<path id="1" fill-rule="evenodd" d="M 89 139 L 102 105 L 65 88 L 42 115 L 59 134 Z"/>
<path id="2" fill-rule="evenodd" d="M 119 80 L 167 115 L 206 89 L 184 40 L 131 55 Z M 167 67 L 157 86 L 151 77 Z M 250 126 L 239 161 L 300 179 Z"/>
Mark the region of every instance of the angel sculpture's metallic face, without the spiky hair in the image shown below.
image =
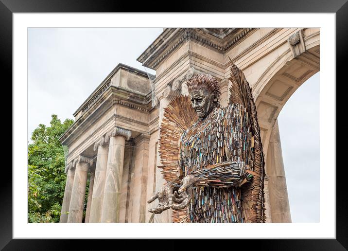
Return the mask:
<path id="1" fill-rule="evenodd" d="M 206 117 L 214 106 L 215 94 L 205 88 L 190 91 L 191 104 L 198 117 Z"/>

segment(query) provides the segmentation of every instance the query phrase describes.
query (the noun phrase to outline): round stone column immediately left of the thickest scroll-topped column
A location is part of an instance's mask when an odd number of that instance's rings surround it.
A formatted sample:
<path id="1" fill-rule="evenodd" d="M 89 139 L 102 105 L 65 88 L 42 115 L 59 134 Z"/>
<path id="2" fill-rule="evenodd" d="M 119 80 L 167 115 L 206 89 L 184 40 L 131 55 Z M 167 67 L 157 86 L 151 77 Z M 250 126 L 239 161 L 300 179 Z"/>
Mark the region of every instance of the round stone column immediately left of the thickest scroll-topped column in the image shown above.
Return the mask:
<path id="1" fill-rule="evenodd" d="M 101 222 L 102 207 L 105 187 L 105 175 L 108 149 L 104 137 L 94 144 L 94 151 L 98 149 L 97 162 L 95 165 L 93 194 L 90 205 L 89 222 Z"/>

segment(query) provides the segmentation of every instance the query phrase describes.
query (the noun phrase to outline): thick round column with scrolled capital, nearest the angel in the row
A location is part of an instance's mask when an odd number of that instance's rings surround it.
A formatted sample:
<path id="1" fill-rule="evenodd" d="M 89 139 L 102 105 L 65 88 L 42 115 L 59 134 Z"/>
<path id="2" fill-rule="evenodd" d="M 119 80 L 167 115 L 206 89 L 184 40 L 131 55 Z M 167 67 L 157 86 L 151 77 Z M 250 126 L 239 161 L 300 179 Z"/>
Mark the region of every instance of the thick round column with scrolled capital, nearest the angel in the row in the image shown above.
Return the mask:
<path id="1" fill-rule="evenodd" d="M 115 127 L 105 136 L 105 142 L 109 142 L 109 154 L 101 222 L 119 222 L 124 143 L 130 137 L 131 131 L 120 127 Z"/>

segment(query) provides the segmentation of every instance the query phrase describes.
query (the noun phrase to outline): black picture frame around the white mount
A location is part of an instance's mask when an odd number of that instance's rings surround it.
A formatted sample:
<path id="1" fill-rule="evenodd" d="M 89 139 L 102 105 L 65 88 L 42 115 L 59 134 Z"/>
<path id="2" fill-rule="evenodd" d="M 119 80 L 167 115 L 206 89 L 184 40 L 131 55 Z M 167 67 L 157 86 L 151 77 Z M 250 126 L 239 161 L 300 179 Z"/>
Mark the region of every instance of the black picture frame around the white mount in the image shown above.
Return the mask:
<path id="1" fill-rule="evenodd" d="M 12 83 L 12 30 L 13 13 L 42 13 L 42 12 L 163 12 L 154 6 L 162 6 L 161 3 L 114 1 L 114 0 L 0 0 L 0 61 L 2 63 L 2 79 L 4 83 Z M 167 12 L 169 9 L 165 10 Z M 345 114 L 345 101 L 341 90 L 346 81 L 343 81 L 347 70 L 344 62 L 348 55 L 348 3 L 347 0 L 235 0 L 222 2 L 219 0 L 205 2 L 187 1 L 182 4 L 172 4 L 172 12 L 286 12 L 286 13 L 335 13 L 336 14 L 336 115 Z M 341 81 L 340 81 L 341 80 Z M 340 90 L 338 90 L 340 89 Z M 341 96 L 340 96 L 341 95 Z M 344 116 L 342 116 L 344 117 Z M 336 116 L 340 118 L 340 116 Z M 345 132 L 347 125 L 343 120 L 336 119 L 336 156 L 345 156 Z M 15 132 L 12 131 L 12 134 Z M 341 144 L 341 145 L 340 145 Z M 16 149 L 13 149 L 16 150 Z M 347 250 L 348 249 L 348 221 L 347 221 L 347 195 L 345 179 L 347 171 L 345 164 L 339 165 L 337 158 L 332 160 L 332 171 L 336 168 L 336 239 L 277 239 L 277 240 L 247 240 L 247 247 L 256 250 Z M 341 157 L 342 160 L 342 157 Z M 11 168 L 2 169 L 2 177 L 12 177 Z M 64 250 L 70 249 L 71 240 L 29 240 L 12 238 L 12 179 L 1 179 L 0 197 L 0 248 L 3 250 Z M 103 240 L 105 241 L 105 240 Z M 120 243 L 117 245 L 124 245 Z M 155 242 L 146 240 L 151 249 L 155 248 Z M 233 240 L 244 243 L 246 240 Z M 75 242 L 75 241 L 73 241 Z M 92 249 L 90 240 L 80 240 L 81 247 Z M 111 240 L 104 242 L 109 245 Z M 173 245 L 172 245 L 173 243 Z M 166 244 L 172 249 L 175 240 Z M 104 246 L 103 245 L 103 246 Z M 144 246 L 148 246 L 144 245 Z M 195 250 L 200 246 L 205 247 L 204 242 L 194 242 Z M 106 246 L 105 246 L 106 247 Z"/>

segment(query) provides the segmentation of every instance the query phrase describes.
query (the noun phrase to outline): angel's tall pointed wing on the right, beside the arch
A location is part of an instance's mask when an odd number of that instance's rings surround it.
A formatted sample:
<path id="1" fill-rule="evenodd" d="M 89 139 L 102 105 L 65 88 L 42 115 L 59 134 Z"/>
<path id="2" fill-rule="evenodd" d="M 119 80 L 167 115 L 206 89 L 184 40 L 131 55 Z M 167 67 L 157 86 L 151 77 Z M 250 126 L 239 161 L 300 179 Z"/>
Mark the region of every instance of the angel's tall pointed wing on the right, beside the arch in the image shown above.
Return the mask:
<path id="1" fill-rule="evenodd" d="M 256 111 L 255 101 L 252 95 L 252 90 L 246 80 L 244 73 L 232 62 L 230 68 L 229 80 L 232 82 L 230 88 L 229 104 L 242 104 L 250 114 L 250 128 L 254 135 L 255 161 L 254 161 L 254 178 L 252 182 L 245 183 L 242 188 L 242 205 L 246 222 L 265 222 L 264 215 L 264 155 L 262 149 L 260 126 Z"/>

